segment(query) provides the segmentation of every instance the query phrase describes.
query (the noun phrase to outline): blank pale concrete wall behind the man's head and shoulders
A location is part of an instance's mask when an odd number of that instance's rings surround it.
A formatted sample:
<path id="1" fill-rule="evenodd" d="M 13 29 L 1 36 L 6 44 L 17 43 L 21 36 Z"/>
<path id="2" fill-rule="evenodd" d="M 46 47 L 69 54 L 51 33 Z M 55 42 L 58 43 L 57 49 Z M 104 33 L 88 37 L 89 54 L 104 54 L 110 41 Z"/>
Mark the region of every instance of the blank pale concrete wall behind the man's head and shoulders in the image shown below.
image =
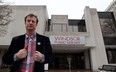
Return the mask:
<path id="1" fill-rule="evenodd" d="M 39 23 L 37 26 L 37 32 L 44 34 L 45 24 L 48 19 L 46 6 L 10 6 L 13 10 L 11 14 L 12 22 L 8 26 L 8 33 L 4 37 L 0 37 L 0 45 L 9 45 L 11 38 L 17 35 L 25 33 L 24 17 L 29 13 L 37 15 Z"/>

